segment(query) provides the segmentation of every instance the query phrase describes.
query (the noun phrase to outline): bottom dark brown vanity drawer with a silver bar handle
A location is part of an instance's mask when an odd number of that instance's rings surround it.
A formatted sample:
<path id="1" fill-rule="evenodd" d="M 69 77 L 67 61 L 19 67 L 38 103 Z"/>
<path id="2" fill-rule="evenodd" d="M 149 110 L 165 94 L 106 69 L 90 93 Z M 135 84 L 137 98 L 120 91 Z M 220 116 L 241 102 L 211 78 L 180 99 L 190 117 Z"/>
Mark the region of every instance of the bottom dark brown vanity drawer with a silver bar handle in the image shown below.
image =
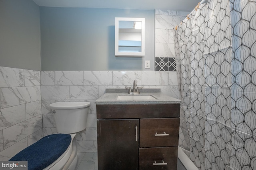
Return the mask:
<path id="1" fill-rule="evenodd" d="M 178 147 L 140 148 L 139 170 L 177 170 L 177 155 Z"/>

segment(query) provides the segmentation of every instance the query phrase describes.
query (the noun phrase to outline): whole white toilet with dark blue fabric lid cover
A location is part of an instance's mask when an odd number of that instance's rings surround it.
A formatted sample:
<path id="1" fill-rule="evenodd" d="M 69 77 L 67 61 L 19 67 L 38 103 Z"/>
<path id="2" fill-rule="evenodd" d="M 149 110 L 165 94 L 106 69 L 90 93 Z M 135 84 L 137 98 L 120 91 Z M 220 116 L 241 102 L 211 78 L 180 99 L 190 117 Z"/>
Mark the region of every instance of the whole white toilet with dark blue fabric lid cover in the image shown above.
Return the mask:
<path id="1" fill-rule="evenodd" d="M 78 165 L 76 133 L 86 129 L 90 102 L 50 104 L 58 134 L 43 137 L 9 161 L 28 161 L 28 170 L 75 170 Z"/>

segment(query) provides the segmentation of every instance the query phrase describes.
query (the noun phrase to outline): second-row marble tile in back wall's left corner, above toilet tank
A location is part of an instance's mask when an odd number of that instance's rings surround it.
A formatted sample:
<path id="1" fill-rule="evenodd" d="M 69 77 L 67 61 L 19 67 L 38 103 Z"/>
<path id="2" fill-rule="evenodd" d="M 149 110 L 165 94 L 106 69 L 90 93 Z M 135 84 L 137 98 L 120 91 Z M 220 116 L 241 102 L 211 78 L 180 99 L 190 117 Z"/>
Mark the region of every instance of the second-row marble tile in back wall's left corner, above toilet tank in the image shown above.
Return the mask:
<path id="1" fill-rule="evenodd" d="M 41 86 L 42 100 L 69 100 L 69 86 Z"/>

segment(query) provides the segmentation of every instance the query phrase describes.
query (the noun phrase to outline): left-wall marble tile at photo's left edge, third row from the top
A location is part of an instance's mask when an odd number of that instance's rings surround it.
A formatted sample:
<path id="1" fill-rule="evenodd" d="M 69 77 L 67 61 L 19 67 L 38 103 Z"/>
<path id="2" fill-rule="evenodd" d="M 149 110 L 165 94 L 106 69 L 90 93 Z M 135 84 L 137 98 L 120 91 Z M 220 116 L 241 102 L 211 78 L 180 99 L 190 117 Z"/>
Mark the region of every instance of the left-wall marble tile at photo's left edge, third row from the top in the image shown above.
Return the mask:
<path id="1" fill-rule="evenodd" d="M 26 120 L 25 104 L 0 109 L 0 130 Z"/>

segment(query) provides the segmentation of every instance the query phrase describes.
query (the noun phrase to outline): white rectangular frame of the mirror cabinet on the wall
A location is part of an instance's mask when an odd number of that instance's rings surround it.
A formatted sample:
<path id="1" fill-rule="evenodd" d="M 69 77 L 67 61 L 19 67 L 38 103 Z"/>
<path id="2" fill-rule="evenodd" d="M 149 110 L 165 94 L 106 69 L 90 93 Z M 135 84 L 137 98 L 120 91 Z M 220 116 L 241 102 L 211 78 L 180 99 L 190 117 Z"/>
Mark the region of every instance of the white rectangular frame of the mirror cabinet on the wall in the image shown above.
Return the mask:
<path id="1" fill-rule="evenodd" d="M 141 21 L 141 52 L 119 52 L 118 39 L 119 39 L 119 21 Z M 116 17 L 115 25 L 115 56 L 118 57 L 142 57 L 145 56 L 145 18 L 120 18 Z"/>

